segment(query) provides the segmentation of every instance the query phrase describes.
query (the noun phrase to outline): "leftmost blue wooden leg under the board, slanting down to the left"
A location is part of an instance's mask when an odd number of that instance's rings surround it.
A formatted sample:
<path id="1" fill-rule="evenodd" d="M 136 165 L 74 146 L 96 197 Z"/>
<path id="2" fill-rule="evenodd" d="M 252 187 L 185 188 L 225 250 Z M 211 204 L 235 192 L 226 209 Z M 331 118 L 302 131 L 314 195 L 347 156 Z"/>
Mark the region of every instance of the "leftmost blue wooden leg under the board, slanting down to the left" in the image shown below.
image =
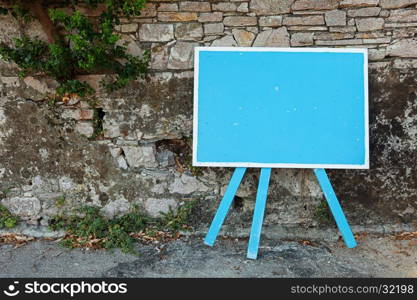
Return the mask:
<path id="1" fill-rule="evenodd" d="M 217 235 L 219 234 L 220 228 L 223 225 L 224 219 L 226 218 L 227 212 L 232 205 L 233 198 L 235 197 L 236 191 L 239 188 L 240 182 L 242 181 L 243 175 L 245 175 L 246 168 L 236 168 L 232 178 L 230 179 L 229 186 L 224 193 L 223 199 L 220 202 L 219 208 L 217 209 L 216 215 L 211 222 L 210 229 L 207 232 L 204 243 L 208 246 L 213 246 L 216 241 Z"/>

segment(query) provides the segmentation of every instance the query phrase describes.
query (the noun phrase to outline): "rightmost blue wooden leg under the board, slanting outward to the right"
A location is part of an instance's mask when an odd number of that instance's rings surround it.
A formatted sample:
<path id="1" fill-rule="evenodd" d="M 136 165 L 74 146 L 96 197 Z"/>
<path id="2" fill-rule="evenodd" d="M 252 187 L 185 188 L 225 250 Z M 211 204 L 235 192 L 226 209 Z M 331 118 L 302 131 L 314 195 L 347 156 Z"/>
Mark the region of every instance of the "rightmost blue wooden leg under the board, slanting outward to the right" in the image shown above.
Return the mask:
<path id="1" fill-rule="evenodd" d="M 324 169 L 314 169 L 314 173 L 320 183 L 321 189 L 323 190 L 324 196 L 326 197 L 327 203 L 329 204 L 330 210 L 336 221 L 337 227 L 342 233 L 345 244 L 348 248 L 356 247 L 355 237 L 352 234 L 352 230 L 346 220 L 345 214 L 343 213 L 342 207 L 337 200 L 336 194 L 334 193 L 333 187 L 327 177 Z"/>

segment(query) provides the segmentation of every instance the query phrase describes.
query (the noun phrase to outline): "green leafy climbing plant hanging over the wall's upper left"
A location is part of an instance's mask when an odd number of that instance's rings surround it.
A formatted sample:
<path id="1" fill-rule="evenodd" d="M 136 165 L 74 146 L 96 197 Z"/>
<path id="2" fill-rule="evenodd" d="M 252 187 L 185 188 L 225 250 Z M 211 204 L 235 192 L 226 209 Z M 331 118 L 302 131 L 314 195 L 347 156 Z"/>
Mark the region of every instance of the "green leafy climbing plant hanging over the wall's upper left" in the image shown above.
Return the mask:
<path id="1" fill-rule="evenodd" d="M 61 96 L 94 93 L 89 84 L 76 79 L 77 75 L 106 74 L 101 85 L 107 91 L 123 88 L 146 74 L 149 53 L 145 51 L 142 57 L 127 53 L 126 45 L 119 43 L 120 35 L 114 32 L 115 26 L 121 17 L 140 15 L 145 1 L 67 0 L 61 6 L 65 10 L 51 8 L 54 1 L 5 1 L 0 13 L 11 14 L 21 24 L 37 18 L 48 42 L 22 33 L 14 45 L 0 44 L 0 56 L 15 62 L 21 68 L 20 76 L 53 77 L 59 83 L 57 94 Z M 77 9 L 79 2 L 91 9 L 100 5 L 101 14 L 87 17 Z"/>

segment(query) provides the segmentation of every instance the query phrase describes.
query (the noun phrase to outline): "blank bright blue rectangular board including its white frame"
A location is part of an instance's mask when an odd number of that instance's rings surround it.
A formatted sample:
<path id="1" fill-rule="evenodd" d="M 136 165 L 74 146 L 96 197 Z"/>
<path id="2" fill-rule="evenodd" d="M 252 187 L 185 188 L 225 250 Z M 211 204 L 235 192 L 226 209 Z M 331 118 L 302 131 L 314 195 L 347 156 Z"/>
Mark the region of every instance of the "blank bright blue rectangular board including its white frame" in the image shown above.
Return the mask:
<path id="1" fill-rule="evenodd" d="M 369 168 L 366 49 L 197 47 L 193 165 Z"/>

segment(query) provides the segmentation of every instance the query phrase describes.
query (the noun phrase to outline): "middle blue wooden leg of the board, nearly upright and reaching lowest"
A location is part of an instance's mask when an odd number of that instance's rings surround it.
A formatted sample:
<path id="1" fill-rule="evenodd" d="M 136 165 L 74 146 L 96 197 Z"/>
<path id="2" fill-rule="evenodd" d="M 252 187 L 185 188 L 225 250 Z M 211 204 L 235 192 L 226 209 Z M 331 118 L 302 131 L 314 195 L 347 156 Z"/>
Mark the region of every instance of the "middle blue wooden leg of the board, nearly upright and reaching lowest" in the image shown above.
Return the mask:
<path id="1" fill-rule="evenodd" d="M 261 176 L 259 177 L 258 191 L 256 194 L 255 211 L 253 212 L 252 228 L 247 254 L 247 257 L 251 259 L 256 259 L 258 257 L 259 240 L 261 237 L 262 222 L 264 219 L 270 177 L 271 168 L 262 168 Z"/>

